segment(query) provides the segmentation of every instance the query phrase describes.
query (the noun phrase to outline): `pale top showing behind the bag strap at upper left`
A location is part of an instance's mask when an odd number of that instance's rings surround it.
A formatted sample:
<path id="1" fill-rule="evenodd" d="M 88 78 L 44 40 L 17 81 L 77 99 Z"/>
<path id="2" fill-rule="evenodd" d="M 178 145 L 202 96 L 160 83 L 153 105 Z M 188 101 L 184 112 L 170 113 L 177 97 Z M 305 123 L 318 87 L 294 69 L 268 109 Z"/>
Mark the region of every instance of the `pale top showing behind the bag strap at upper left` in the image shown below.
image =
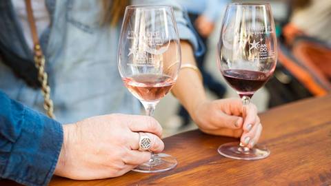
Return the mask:
<path id="1" fill-rule="evenodd" d="M 36 22 L 37 32 L 40 37 L 43 30 L 45 30 L 50 24 L 50 15 L 46 9 L 45 0 L 33 0 L 31 3 L 34 21 Z M 33 41 L 30 32 L 28 14 L 26 12 L 26 2 L 23 0 L 12 0 L 12 5 L 14 6 L 14 11 L 16 12 L 19 21 L 21 22 L 21 28 L 23 29 L 23 35 L 26 38 L 26 43 L 29 48 L 32 49 Z"/>

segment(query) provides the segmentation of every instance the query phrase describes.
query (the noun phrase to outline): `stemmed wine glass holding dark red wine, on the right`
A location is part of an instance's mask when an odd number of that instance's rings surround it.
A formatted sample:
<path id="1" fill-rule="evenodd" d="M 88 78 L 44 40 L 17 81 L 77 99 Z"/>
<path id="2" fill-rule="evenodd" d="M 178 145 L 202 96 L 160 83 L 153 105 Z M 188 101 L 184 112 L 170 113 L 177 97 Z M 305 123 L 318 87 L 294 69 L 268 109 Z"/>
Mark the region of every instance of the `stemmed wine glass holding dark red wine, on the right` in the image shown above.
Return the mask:
<path id="1" fill-rule="evenodd" d="M 225 80 L 243 101 L 243 118 L 250 99 L 270 79 L 276 67 L 277 38 L 268 3 L 231 3 L 227 6 L 217 49 L 218 66 Z M 219 154 L 234 159 L 257 160 L 269 156 L 263 145 L 251 149 L 225 143 Z"/>

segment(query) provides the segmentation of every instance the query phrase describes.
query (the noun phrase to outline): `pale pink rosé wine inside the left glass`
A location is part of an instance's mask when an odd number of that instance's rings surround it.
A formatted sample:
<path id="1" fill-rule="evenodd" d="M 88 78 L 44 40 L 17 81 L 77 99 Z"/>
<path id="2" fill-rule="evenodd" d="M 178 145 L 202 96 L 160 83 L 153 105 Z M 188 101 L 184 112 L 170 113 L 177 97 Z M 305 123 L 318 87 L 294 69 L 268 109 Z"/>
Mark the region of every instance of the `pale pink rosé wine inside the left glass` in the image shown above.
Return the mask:
<path id="1" fill-rule="evenodd" d="M 123 78 L 128 90 L 143 101 L 157 101 L 169 92 L 174 79 L 166 75 L 141 74 Z"/>

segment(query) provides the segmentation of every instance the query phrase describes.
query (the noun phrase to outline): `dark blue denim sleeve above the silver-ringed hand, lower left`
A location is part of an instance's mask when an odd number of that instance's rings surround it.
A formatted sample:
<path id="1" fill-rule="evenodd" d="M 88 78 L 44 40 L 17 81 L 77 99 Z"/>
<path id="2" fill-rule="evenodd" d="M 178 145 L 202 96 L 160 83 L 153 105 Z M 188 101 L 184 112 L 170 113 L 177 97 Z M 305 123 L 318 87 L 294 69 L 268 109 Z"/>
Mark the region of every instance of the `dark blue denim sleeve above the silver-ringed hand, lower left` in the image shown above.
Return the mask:
<path id="1" fill-rule="evenodd" d="M 0 178 L 47 185 L 63 143 L 60 123 L 0 91 Z"/>

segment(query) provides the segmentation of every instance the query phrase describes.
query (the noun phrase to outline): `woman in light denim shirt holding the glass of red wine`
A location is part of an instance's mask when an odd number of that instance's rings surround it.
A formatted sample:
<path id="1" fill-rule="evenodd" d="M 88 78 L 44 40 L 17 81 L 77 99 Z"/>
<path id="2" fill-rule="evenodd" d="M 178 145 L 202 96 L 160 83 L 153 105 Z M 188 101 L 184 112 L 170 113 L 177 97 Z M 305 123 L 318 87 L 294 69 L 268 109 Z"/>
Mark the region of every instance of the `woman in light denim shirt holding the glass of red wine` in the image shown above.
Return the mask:
<path id="1" fill-rule="evenodd" d="M 110 61 L 117 59 L 117 45 L 114 45 L 114 41 L 119 40 L 119 20 L 128 3 L 32 1 L 41 51 L 46 57 L 45 70 L 51 87 L 50 96 L 54 101 L 54 114 L 60 123 L 76 123 L 100 114 L 139 114 L 139 102 L 124 87 L 116 60 Z M 131 1 L 131 4 L 137 3 L 173 6 L 181 37 L 182 61 L 194 66 L 193 49 L 198 51 L 199 45 L 192 30 L 188 28 L 188 21 L 183 18 L 181 7 L 174 1 Z M 43 97 L 39 88 L 43 85 L 40 85 L 37 69 L 34 68 L 34 42 L 24 1 L 0 1 L 0 25 L 3 62 L 0 63 L 0 88 L 10 98 L 41 111 Z M 46 88 L 46 91 L 49 90 Z M 259 140 L 262 125 L 256 107 L 250 105 L 248 116 L 243 121 L 240 99 L 208 100 L 199 71 L 195 68 L 181 69 L 172 92 L 203 132 L 240 137 L 248 147 L 254 146 Z M 99 123 L 105 123 L 105 120 L 88 119 L 86 122 L 101 125 Z M 113 123 L 111 120 L 109 122 Z M 127 122 L 120 122 L 125 126 L 123 123 Z M 136 125 L 139 123 L 137 121 Z M 244 141 L 246 137 L 251 140 Z M 81 161 L 88 161 L 86 156 L 81 158 Z"/>

